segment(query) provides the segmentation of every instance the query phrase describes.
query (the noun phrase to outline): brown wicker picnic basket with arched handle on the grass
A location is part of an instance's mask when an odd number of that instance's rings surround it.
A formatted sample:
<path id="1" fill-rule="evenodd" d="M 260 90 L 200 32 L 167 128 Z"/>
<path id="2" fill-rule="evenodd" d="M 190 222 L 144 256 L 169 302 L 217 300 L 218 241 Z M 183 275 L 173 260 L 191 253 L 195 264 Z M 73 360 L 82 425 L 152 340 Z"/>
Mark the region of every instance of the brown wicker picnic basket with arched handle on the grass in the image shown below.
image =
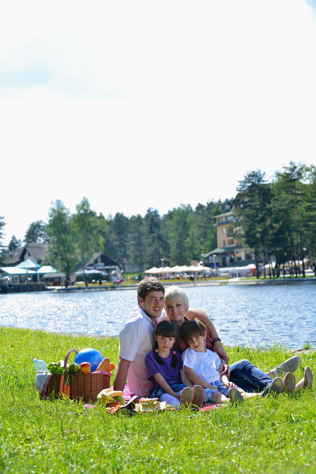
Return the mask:
<path id="1" fill-rule="evenodd" d="M 74 352 L 75 355 L 78 354 L 76 349 L 70 349 L 64 360 L 63 368 L 67 367 L 67 362 L 70 354 Z M 84 402 L 94 402 L 97 400 L 97 395 L 104 388 L 109 388 L 110 372 L 102 372 L 96 374 L 72 374 L 69 376 L 69 385 L 70 385 L 70 399 L 76 400 L 81 399 Z M 47 383 L 47 388 L 45 392 L 45 398 L 49 395 L 54 394 L 54 398 L 59 398 L 59 385 L 60 385 L 61 375 L 53 374 Z"/>

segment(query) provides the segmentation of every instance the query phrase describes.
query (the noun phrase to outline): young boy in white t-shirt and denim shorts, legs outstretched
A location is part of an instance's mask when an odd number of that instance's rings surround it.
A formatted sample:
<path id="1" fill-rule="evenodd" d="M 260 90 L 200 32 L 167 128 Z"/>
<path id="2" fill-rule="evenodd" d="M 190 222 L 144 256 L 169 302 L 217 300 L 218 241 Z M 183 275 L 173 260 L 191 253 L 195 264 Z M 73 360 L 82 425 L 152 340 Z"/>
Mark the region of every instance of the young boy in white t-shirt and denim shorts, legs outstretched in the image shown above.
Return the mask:
<path id="1" fill-rule="evenodd" d="M 226 375 L 220 375 L 220 359 L 215 352 L 206 349 L 206 326 L 199 319 L 186 321 L 181 326 L 181 337 L 188 342 L 189 348 L 182 354 L 185 373 L 195 385 L 201 385 L 205 391 L 205 401 L 227 403 L 243 401 L 244 398 L 266 397 L 270 393 L 280 393 L 282 380 L 276 377 L 261 393 L 247 393 L 229 382 Z M 229 396 L 229 399 L 227 398 Z"/>

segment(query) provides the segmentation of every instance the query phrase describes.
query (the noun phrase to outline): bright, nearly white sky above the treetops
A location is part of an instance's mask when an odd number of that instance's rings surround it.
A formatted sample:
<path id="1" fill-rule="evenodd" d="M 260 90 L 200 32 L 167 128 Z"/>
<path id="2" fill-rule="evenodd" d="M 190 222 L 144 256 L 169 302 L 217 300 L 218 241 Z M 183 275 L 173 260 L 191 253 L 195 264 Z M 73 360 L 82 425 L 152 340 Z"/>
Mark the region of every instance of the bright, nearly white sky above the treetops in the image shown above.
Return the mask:
<path id="1" fill-rule="evenodd" d="M 235 196 L 316 164 L 316 5 L 0 0 L 0 216 L 103 215 Z"/>

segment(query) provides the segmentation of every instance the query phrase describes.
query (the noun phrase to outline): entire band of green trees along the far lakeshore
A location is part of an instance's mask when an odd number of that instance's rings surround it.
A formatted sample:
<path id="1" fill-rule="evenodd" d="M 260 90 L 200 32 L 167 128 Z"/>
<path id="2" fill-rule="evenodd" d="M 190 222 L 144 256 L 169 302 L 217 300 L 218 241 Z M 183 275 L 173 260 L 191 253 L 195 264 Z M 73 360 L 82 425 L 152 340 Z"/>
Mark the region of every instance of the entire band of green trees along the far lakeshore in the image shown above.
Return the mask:
<path id="1" fill-rule="evenodd" d="M 62 201 L 49 210 L 48 222 L 32 222 L 24 237 L 25 244 L 45 242 L 47 264 L 69 276 L 75 266 L 85 263 L 93 252 L 104 252 L 121 268 L 137 267 L 140 272 L 152 266 L 190 264 L 201 254 L 217 247 L 214 216 L 234 208 L 235 218 L 242 221 L 242 235 L 231 231 L 244 246 L 253 248 L 255 262 L 276 260 L 276 276 L 280 265 L 292 260 L 316 260 L 316 168 L 291 162 L 266 182 L 261 170 L 251 171 L 237 187 L 235 199 L 199 203 L 195 209 L 181 204 L 160 216 L 149 208 L 142 217 L 117 212 L 107 218 L 90 208 L 83 198 L 71 214 Z M 5 222 L 0 217 L 0 260 L 21 246 L 12 236 L 8 247 L 1 246 Z M 303 265 L 304 273 L 304 265 Z M 259 274 L 259 273 L 258 273 Z"/>

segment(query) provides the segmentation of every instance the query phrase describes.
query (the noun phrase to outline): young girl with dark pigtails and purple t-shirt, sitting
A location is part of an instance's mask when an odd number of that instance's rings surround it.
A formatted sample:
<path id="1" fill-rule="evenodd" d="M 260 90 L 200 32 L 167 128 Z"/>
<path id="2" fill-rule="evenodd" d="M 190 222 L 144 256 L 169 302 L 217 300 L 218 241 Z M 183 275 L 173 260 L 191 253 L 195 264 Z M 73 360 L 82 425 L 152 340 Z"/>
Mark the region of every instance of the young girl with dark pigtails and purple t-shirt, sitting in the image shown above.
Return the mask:
<path id="1" fill-rule="evenodd" d="M 201 406 L 204 390 L 193 388 L 183 370 L 182 357 L 177 347 L 179 328 L 173 321 L 165 320 L 154 330 L 155 349 L 145 357 L 147 379 L 153 384 L 151 398 L 166 401 L 172 407 L 179 405 Z"/>

